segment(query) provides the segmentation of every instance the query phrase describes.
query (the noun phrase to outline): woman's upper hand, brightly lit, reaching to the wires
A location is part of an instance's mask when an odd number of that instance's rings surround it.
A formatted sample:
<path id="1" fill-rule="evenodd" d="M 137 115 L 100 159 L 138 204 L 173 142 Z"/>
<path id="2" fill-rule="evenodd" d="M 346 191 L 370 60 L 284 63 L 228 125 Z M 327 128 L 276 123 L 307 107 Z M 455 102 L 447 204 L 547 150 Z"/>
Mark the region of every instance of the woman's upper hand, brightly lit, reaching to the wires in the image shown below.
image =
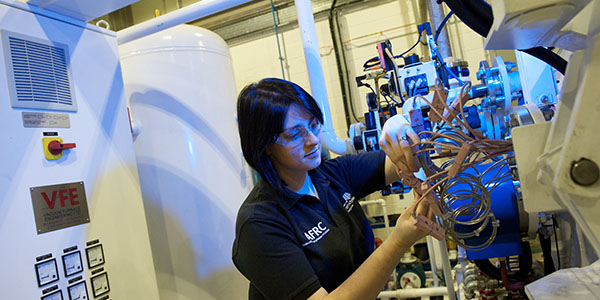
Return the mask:
<path id="1" fill-rule="evenodd" d="M 419 136 L 410 127 L 404 116 L 397 114 L 388 119 L 381 130 L 379 145 L 385 154 L 402 172 L 411 174 L 419 171 L 412 144 L 420 142 Z"/>

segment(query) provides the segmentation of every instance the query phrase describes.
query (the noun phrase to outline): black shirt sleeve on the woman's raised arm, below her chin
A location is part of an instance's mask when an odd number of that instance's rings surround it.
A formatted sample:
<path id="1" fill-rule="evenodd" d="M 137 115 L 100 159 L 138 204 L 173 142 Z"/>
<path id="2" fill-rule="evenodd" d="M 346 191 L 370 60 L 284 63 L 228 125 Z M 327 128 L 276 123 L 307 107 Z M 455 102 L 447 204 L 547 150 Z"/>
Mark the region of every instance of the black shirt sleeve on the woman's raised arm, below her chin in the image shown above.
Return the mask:
<path id="1" fill-rule="evenodd" d="M 328 163 L 352 194 L 362 198 L 385 187 L 385 158 L 385 152 L 375 151 L 341 156 Z"/>

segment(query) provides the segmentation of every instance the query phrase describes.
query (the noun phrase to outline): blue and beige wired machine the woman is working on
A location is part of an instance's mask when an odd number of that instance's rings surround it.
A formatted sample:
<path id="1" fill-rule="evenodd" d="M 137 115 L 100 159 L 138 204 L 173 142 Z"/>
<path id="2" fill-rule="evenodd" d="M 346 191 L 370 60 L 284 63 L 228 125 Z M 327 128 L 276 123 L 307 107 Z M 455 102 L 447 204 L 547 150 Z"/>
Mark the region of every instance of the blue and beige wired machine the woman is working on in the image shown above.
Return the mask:
<path id="1" fill-rule="evenodd" d="M 461 298 L 515 299 L 526 292 L 546 299 L 544 282 L 554 276 L 563 281 L 554 291 L 569 290 L 569 275 L 551 273 L 584 267 L 567 274 L 589 274 L 597 264 L 586 266 L 600 253 L 593 217 L 600 175 L 591 134 L 598 125 L 591 83 L 598 24 L 590 19 L 600 7 L 596 1 L 444 2 L 449 16 L 456 13 L 476 31 L 491 28 L 488 49 L 527 50 L 516 51 L 516 62 L 481 62 L 474 83 L 466 62 L 440 56 L 427 23 L 418 26 L 419 41 L 425 34 L 432 61 L 405 55 L 411 49 L 395 56 L 388 41 L 379 43 L 357 77 L 359 87 L 372 91 L 366 125 L 352 125 L 349 135 L 357 151 L 373 151 L 369 141 L 379 139 L 387 118 L 401 113 L 411 122 L 421 138 L 412 147 L 422 171 L 405 174 L 402 183 L 417 191 L 417 201 L 439 206 L 436 223 L 418 215 L 415 222 L 461 249 L 455 268 Z M 486 14 L 473 20 L 477 10 Z M 493 24 L 486 19 L 492 11 Z M 566 62 L 540 46 L 574 51 L 566 72 Z M 557 86 L 560 73 L 565 79 Z M 543 265 L 532 259 L 530 243 L 541 247 Z M 590 280 L 584 293 L 595 295 L 600 284 Z"/>

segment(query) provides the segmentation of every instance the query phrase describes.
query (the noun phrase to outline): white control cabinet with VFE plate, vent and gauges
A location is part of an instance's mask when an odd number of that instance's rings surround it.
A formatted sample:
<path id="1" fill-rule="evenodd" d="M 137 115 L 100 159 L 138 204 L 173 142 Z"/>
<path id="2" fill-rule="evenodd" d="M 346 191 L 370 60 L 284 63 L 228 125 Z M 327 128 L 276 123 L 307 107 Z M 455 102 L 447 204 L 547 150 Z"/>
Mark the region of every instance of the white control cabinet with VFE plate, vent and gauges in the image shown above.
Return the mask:
<path id="1" fill-rule="evenodd" d="M 99 6 L 0 1 L 1 299 L 159 299 L 116 36 L 83 21 Z"/>

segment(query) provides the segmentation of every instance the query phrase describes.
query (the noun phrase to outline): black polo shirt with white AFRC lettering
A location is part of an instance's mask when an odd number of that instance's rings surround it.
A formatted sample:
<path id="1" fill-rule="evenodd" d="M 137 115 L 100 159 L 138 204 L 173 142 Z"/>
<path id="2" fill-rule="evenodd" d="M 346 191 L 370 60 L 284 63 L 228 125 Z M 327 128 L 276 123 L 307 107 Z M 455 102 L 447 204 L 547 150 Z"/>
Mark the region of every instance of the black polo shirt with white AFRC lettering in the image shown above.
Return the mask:
<path id="1" fill-rule="evenodd" d="M 249 299 L 307 299 L 331 292 L 373 252 L 358 200 L 385 185 L 385 153 L 346 155 L 309 171 L 320 200 L 262 180 L 237 216 L 233 262 Z"/>

